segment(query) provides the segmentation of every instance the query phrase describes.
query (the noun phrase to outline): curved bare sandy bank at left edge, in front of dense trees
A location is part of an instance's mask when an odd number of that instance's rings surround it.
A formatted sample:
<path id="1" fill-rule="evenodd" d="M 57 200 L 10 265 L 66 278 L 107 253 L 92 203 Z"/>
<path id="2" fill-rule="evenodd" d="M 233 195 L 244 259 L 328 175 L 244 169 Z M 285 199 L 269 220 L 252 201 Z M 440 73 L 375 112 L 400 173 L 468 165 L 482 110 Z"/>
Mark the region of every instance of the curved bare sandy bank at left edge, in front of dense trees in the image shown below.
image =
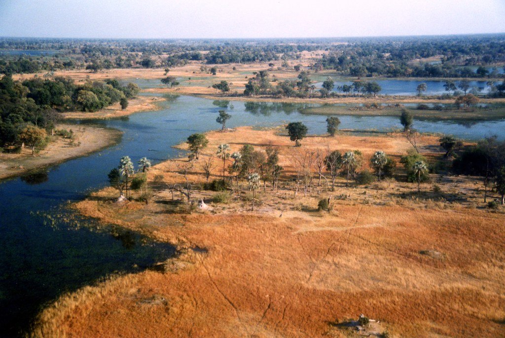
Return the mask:
<path id="1" fill-rule="evenodd" d="M 35 156 L 27 147 L 19 154 L 0 153 L 0 180 L 41 170 L 46 166 L 58 164 L 71 158 L 107 148 L 116 144 L 122 133 L 115 129 L 90 125 L 61 124 L 56 129 L 74 132 L 73 139 L 54 137 L 54 141 L 40 150 Z"/>

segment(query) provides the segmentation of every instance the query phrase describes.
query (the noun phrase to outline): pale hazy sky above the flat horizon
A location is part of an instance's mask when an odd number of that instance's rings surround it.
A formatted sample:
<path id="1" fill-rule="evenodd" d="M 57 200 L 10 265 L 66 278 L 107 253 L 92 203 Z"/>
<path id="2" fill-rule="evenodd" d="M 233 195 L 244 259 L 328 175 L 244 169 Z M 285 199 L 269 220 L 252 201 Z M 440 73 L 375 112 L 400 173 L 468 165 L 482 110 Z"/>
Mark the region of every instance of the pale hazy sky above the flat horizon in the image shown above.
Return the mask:
<path id="1" fill-rule="evenodd" d="M 0 36 L 223 38 L 505 32 L 505 0 L 0 0 Z"/>

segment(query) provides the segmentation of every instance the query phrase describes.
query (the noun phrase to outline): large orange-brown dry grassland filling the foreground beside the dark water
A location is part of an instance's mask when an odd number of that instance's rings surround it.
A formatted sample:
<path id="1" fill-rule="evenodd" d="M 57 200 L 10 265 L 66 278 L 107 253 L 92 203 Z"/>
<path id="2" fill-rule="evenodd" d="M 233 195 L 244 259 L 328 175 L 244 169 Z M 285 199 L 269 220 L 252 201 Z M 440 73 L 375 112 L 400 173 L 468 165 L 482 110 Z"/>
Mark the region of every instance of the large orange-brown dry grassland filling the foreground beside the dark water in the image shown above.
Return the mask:
<path id="1" fill-rule="evenodd" d="M 410 144 L 401 134 L 342 133 L 295 148 L 282 129 L 244 127 L 207 137 L 189 171 L 194 187 L 205 182 L 201 165 L 218 144 L 272 144 L 284 167 L 279 189 L 259 189 L 251 212 L 245 182 L 227 203 L 195 188 L 193 200 L 209 208 L 187 213 L 184 197 L 169 189 L 183 184 L 187 160 L 174 159 L 148 172 L 149 204 L 118 204 L 112 188 L 93 193 L 75 205 L 79 212 L 173 243 L 181 254 L 62 296 L 39 315 L 34 336 L 340 337 L 348 335 L 337 324 L 361 313 L 380 319 L 391 337 L 505 334 L 505 215 L 477 208 L 479 178 L 432 177 L 420 194 L 401 175 L 351 187 L 338 178 L 336 191 L 315 184 L 304 196 L 292 184 L 297 154 L 358 149 L 366 168 L 374 151 L 397 160 Z M 430 161 L 441 159 L 436 137 L 418 145 Z M 219 179 L 222 161 L 212 163 L 211 180 Z M 330 195 L 331 211 L 318 211 Z"/>

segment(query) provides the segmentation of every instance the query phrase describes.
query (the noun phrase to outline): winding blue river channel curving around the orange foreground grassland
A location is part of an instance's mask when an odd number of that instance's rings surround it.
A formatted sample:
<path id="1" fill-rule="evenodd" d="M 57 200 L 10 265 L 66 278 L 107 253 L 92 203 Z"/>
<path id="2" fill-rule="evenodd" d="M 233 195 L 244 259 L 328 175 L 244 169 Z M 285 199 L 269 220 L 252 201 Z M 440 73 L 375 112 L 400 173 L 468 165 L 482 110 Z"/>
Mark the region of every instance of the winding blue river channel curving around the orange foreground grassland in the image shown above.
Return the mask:
<path id="1" fill-rule="evenodd" d="M 114 272 L 137 271 L 166 259 L 174 249 L 153 243 L 133 233 L 112 236 L 90 231 L 89 219 L 75 219 L 62 204 L 85 197 L 107 185 L 107 173 L 119 158 L 143 156 L 157 163 L 176 156 L 171 146 L 190 134 L 217 129 L 218 110 L 212 100 L 180 96 L 162 103 L 164 109 L 136 114 L 130 118 L 97 122 L 124 132 L 121 142 L 106 150 L 69 160 L 37 175 L 0 183 L 0 336 L 16 335 L 26 329 L 44 302 L 65 291 Z M 228 127 L 242 125 L 277 126 L 301 121 L 310 133 L 324 133 L 326 116 L 303 115 L 304 105 L 244 103 L 232 101 Z M 391 130 L 399 128 L 397 118 L 339 117 L 341 128 Z M 423 132 L 442 132 L 457 137 L 479 139 L 491 134 L 505 135 L 505 121 L 464 125 L 450 121 L 415 121 Z M 149 151 L 150 149 L 150 151 Z M 48 220 L 49 214 L 56 225 Z M 68 219 L 67 219 L 67 216 Z"/>

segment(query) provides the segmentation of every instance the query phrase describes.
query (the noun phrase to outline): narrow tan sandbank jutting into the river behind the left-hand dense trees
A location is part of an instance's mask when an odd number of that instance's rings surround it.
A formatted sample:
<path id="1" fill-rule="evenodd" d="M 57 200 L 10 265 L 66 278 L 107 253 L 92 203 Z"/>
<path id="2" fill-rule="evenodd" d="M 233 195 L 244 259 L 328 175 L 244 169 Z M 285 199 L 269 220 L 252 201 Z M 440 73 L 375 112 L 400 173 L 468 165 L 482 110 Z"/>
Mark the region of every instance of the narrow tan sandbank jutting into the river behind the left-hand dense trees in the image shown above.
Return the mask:
<path id="1" fill-rule="evenodd" d="M 163 97 L 138 96 L 134 99 L 128 100 L 128 107 L 126 107 L 126 109 L 121 109 L 121 105 L 118 102 L 98 111 L 69 111 L 63 112 L 62 116 L 66 120 L 118 119 L 140 111 L 158 110 L 160 109 L 158 103 L 164 100 L 165 98 Z"/>

